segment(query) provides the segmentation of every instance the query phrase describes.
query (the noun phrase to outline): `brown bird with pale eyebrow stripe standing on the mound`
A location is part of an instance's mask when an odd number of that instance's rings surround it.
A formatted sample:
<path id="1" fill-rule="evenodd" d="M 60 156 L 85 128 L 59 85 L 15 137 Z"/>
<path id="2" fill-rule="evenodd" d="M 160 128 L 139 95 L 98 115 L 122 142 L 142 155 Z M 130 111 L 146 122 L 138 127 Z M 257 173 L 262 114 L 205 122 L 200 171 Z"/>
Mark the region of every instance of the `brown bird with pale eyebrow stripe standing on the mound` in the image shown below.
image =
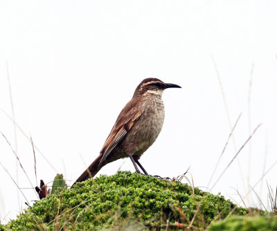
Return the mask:
<path id="1" fill-rule="evenodd" d="M 73 185 L 93 178 L 106 164 L 125 157 L 129 157 L 137 173 L 141 173 L 140 167 L 143 173 L 148 175 L 139 159 L 161 132 L 165 117 L 161 96 L 164 89 L 172 87 L 181 88 L 176 84 L 163 83 L 158 78 L 145 78 L 118 115 L 100 155 Z"/>

